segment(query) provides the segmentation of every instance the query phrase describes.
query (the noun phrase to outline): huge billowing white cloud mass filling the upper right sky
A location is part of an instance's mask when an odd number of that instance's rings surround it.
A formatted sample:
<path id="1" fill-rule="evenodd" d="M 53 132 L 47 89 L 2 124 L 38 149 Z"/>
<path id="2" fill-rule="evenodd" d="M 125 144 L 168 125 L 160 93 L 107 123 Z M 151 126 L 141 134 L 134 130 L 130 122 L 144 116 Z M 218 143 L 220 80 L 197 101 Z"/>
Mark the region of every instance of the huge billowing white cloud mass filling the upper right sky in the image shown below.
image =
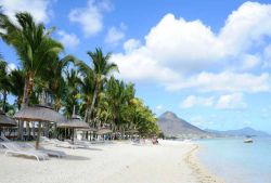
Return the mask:
<path id="1" fill-rule="evenodd" d="M 121 77 L 155 82 L 167 90 L 266 92 L 270 75 L 248 71 L 261 67 L 263 37 L 271 37 L 269 19 L 271 4 L 257 2 L 246 2 L 232 12 L 218 32 L 199 19 L 188 22 L 167 14 L 144 43 L 128 40 L 125 53 L 114 54 L 112 61 L 118 64 Z M 255 49 L 259 53 L 250 53 Z"/>

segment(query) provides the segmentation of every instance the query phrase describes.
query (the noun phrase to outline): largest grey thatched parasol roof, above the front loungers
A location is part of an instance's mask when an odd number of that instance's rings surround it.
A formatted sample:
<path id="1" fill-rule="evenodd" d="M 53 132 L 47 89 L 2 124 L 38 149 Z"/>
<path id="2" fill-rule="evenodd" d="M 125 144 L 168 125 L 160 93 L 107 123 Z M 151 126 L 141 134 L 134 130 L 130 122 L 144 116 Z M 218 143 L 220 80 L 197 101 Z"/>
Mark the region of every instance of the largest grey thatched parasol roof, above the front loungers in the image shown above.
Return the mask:
<path id="1" fill-rule="evenodd" d="M 25 106 L 14 115 L 14 118 L 25 121 L 67 121 L 63 115 L 44 105 L 36 105 L 34 107 Z"/>

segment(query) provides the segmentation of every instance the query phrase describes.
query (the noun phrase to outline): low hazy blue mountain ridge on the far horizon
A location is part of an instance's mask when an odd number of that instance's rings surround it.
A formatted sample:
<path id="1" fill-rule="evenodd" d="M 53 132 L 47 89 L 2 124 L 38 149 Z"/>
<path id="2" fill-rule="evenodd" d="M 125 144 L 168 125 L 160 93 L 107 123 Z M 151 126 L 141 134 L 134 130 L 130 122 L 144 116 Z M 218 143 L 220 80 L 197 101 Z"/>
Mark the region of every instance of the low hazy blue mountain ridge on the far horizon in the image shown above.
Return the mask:
<path id="1" fill-rule="evenodd" d="M 246 136 L 246 135 L 270 136 L 270 134 L 268 134 L 267 132 L 255 130 L 249 127 L 237 129 L 237 130 L 228 130 L 228 131 L 217 131 L 217 130 L 210 130 L 210 129 L 206 129 L 205 131 L 217 134 L 217 135 L 222 135 L 222 136 Z"/>

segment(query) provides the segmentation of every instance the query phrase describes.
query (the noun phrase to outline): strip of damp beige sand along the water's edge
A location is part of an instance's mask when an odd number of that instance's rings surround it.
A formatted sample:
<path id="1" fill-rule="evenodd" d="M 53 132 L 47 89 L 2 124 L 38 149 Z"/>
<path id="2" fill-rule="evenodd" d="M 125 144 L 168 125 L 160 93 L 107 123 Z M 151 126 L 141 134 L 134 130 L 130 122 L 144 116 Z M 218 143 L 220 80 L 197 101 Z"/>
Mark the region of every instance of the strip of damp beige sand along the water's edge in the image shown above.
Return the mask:
<path id="1" fill-rule="evenodd" d="M 194 147 L 186 154 L 185 164 L 191 168 L 193 175 L 199 183 L 225 183 L 221 178 L 211 174 L 208 169 L 199 161 L 196 153 L 201 151 L 201 146 L 194 144 Z"/>

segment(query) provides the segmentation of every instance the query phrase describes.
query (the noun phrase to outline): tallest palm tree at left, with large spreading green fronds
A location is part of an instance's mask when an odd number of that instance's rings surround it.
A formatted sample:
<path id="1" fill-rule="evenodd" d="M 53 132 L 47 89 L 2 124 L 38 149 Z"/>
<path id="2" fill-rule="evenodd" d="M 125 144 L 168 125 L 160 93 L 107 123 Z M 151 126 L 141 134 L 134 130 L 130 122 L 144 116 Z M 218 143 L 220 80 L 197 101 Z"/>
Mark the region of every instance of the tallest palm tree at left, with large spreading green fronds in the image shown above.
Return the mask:
<path id="1" fill-rule="evenodd" d="M 21 60 L 25 71 L 23 104 L 28 105 L 34 88 L 34 79 L 54 60 L 63 47 L 50 36 L 54 28 L 46 29 L 43 24 L 36 24 L 29 13 L 16 13 L 16 22 L 0 14 L 1 38 L 12 45 Z"/>

